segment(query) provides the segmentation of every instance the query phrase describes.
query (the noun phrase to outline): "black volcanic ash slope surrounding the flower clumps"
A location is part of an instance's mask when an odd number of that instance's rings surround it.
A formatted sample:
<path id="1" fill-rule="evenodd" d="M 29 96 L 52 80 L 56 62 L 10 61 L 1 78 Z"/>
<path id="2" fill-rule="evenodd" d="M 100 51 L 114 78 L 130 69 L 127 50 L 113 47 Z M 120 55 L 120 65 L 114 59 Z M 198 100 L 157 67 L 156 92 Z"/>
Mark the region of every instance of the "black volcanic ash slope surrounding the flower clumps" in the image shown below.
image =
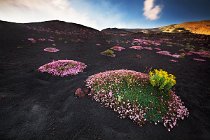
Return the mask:
<path id="1" fill-rule="evenodd" d="M 28 41 L 34 38 L 36 43 Z M 38 41 L 45 38 L 45 41 Z M 185 46 L 209 49 L 209 36 L 193 34 L 105 35 L 81 25 L 59 21 L 34 24 L 0 22 L 0 139 L 144 139 L 207 140 L 210 138 L 210 59 L 192 55 L 172 63 L 169 56 L 149 50 L 131 50 L 134 38 L 165 39 L 162 50 L 178 53 Z M 170 43 L 169 43 L 170 42 Z M 100 43 L 98 46 L 96 44 Z M 115 58 L 101 51 L 121 45 Z M 43 49 L 56 46 L 57 53 Z M 155 46 L 151 46 L 154 48 Z M 189 48 L 189 47 L 188 47 Z M 140 55 L 141 59 L 136 55 Z M 83 73 L 64 78 L 37 72 L 39 66 L 58 59 L 88 65 Z M 177 77 L 176 93 L 190 116 L 168 132 L 161 124 L 138 127 L 88 97 L 74 95 L 84 80 L 110 69 L 162 68 Z"/>

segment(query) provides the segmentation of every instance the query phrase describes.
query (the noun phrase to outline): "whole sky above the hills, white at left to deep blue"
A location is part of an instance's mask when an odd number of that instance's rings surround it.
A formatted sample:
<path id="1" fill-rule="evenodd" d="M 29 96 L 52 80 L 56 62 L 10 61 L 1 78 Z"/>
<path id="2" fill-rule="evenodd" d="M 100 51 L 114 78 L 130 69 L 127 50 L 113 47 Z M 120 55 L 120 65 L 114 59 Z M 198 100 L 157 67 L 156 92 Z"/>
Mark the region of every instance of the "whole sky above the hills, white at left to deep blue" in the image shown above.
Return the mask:
<path id="1" fill-rule="evenodd" d="M 62 20 L 105 28 L 154 28 L 210 20 L 210 0 L 0 0 L 0 20 Z"/>

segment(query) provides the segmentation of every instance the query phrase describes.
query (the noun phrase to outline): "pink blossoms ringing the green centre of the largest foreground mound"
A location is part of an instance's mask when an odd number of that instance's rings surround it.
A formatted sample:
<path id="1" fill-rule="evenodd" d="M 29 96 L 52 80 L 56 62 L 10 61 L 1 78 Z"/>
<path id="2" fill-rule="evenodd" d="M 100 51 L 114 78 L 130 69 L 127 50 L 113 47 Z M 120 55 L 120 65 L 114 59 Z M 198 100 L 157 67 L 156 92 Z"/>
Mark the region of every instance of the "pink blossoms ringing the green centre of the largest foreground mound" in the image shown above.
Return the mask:
<path id="1" fill-rule="evenodd" d="M 146 115 L 148 110 L 151 109 L 151 106 L 142 106 L 135 99 L 134 101 L 124 100 L 118 94 L 119 91 L 124 91 L 120 89 L 122 88 L 120 84 L 122 84 L 122 81 L 126 77 L 130 77 L 127 80 L 131 87 L 132 85 L 130 84 L 140 86 L 149 84 L 148 74 L 121 69 L 105 71 L 89 76 L 86 80 L 86 86 L 90 89 L 89 95 L 95 101 L 118 112 L 120 118 L 129 118 L 139 126 L 142 126 L 148 121 Z M 178 120 L 183 120 L 189 116 L 189 111 L 175 92 L 170 90 L 168 94 L 169 98 L 164 101 L 168 110 L 161 120 L 155 121 L 155 124 L 162 122 L 168 131 L 170 131 L 177 125 Z"/>

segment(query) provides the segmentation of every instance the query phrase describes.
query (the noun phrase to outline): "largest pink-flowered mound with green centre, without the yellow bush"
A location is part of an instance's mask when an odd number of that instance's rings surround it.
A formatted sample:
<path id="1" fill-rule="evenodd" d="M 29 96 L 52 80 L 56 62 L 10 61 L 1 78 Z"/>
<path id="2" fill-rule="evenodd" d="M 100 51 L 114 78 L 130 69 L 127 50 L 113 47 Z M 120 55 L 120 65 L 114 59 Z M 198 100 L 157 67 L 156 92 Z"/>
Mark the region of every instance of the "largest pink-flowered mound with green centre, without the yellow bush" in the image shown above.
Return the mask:
<path id="1" fill-rule="evenodd" d="M 154 79 L 153 79 L 154 80 Z M 156 88 L 150 75 L 132 70 L 111 70 L 88 77 L 89 95 L 106 107 L 142 126 L 162 122 L 170 131 L 177 121 L 189 115 L 181 99 L 172 90 Z"/>

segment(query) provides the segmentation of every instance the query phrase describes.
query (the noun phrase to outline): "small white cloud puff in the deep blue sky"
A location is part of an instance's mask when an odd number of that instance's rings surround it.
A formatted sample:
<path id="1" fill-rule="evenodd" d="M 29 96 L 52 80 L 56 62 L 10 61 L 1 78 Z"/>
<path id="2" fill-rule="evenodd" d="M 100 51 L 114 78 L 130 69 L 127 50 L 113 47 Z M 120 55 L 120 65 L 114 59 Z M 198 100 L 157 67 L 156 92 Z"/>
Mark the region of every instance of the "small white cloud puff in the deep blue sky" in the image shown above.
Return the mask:
<path id="1" fill-rule="evenodd" d="M 144 1 L 144 16 L 149 20 L 156 20 L 160 16 L 162 7 L 160 5 L 155 5 L 155 0 L 145 0 Z"/>

